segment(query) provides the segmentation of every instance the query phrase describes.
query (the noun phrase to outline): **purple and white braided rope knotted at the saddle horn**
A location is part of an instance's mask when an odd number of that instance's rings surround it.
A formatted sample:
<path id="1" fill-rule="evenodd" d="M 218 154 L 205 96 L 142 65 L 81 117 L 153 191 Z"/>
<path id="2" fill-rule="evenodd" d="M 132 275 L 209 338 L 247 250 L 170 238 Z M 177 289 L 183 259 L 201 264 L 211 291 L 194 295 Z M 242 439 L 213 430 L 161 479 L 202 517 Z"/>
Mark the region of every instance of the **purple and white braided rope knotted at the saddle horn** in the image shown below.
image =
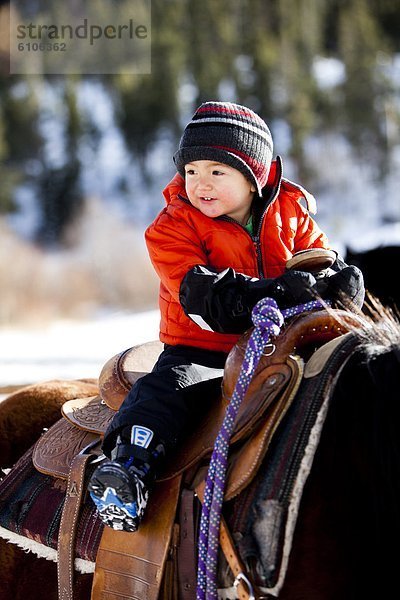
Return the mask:
<path id="1" fill-rule="evenodd" d="M 254 329 L 247 342 L 243 364 L 231 401 L 215 440 L 208 469 L 200 520 L 197 567 L 197 600 L 217 600 L 217 560 L 219 528 L 228 466 L 229 440 L 235 419 L 271 335 L 280 333 L 284 319 L 302 312 L 323 308 L 319 300 L 280 311 L 273 298 L 263 298 L 252 311 Z"/>

